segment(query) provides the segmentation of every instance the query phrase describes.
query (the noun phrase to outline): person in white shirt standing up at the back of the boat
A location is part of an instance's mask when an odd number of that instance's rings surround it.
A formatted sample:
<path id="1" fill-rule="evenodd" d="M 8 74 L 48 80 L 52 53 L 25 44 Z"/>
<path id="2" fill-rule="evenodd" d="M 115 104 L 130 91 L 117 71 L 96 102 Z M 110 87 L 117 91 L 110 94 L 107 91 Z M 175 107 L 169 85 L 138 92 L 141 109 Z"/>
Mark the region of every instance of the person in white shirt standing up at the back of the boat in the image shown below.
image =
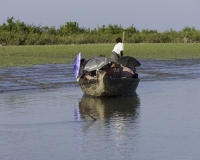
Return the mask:
<path id="1" fill-rule="evenodd" d="M 117 59 L 122 57 L 124 54 L 124 44 L 122 43 L 122 39 L 118 37 L 116 39 L 117 44 L 114 46 L 111 53 L 111 61 L 118 64 Z"/>

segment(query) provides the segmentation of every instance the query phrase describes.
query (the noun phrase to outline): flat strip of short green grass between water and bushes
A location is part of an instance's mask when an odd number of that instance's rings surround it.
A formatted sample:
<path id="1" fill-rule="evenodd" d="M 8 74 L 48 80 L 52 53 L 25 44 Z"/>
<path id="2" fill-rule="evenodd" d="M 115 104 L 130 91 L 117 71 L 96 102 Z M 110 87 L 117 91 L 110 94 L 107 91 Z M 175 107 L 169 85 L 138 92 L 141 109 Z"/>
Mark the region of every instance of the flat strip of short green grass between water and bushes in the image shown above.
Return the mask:
<path id="1" fill-rule="evenodd" d="M 96 55 L 110 57 L 113 47 L 114 44 L 3 46 L 0 47 L 0 68 L 35 64 L 72 64 L 79 52 L 82 52 L 83 58 L 86 59 Z M 137 59 L 200 58 L 199 43 L 125 44 L 124 49 L 124 55 Z"/>

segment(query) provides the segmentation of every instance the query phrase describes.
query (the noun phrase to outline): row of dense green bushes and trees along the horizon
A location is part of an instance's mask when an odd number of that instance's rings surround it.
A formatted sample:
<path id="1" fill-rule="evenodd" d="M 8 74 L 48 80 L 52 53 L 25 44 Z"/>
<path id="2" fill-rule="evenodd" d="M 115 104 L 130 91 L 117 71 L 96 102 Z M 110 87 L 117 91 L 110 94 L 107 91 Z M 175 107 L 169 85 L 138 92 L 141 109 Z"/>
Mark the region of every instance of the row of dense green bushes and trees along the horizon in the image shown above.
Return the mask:
<path id="1" fill-rule="evenodd" d="M 13 17 L 0 25 L 0 44 L 5 45 L 55 45 L 55 44 L 95 44 L 115 43 L 117 37 L 125 33 L 126 43 L 183 43 L 200 42 L 200 30 L 184 27 L 181 31 L 173 29 L 164 32 L 143 29 L 139 31 L 133 25 L 123 28 L 121 25 L 101 26 L 94 29 L 79 27 L 77 22 L 66 22 L 58 29 L 48 26 L 25 24 Z"/>

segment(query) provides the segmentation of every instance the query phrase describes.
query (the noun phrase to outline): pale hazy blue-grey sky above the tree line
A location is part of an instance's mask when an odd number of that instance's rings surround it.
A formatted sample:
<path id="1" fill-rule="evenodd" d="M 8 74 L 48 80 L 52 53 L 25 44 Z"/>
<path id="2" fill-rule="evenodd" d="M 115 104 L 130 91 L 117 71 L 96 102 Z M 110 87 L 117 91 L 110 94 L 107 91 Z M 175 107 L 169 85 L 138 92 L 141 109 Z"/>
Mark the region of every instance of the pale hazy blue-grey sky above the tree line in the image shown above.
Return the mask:
<path id="1" fill-rule="evenodd" d="M 200 0 L 0 0 L 0 24 L 14 17 L 26 24 L 79 27 L 134 25 L 160 32 L 186 26 L 200 30 Z"/>

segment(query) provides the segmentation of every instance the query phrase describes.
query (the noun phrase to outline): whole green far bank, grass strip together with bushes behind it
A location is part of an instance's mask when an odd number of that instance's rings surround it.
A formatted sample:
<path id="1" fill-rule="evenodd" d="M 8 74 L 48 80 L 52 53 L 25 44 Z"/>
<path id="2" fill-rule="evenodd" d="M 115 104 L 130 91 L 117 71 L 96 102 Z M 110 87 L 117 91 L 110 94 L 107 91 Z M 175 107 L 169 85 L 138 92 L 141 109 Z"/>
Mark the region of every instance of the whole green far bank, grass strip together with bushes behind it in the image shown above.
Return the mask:
<path id="1" fill-rule="evenodd" d="M 123 32 L 125 55 L 137 59 L 200 58 L 200 30 L 194 27 L 158 32 L 109 24 L 91 30 L 80 28 L 77 22 L 66 22 L 56 29 L 25 24 L 11 17 L 0 25 L 0 68 L 72 64 L 79 52 L 86 59 L 97 55 L 110 57 L 115 39 L 122 37 Z"/>

